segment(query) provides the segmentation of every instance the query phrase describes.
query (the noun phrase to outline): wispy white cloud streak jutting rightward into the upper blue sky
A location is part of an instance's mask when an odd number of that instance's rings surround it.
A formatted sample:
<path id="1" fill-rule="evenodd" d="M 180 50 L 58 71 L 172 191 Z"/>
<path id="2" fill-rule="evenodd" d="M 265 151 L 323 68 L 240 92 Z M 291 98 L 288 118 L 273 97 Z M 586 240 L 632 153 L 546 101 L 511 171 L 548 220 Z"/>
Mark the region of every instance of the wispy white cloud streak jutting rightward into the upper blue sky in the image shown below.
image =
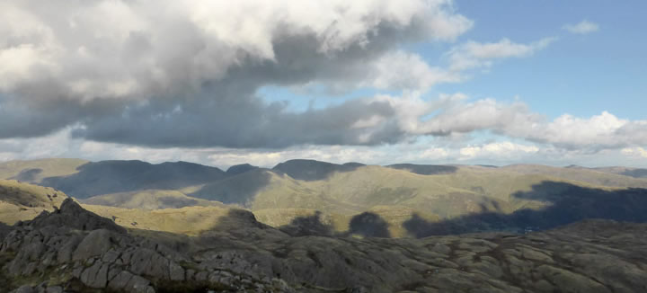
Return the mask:
<path id="1" fill-rule="evenodd" d="M 459 72 L 479 67 L 490 67 L 495 59 L 532 56 L 536 51 L 545 49 L 555 40 L 555 38 L 545 38 L 529 44 L 515 43 L 508 39 L 491 43 L 468 41 L 448 52 L 449 68 Z"/>

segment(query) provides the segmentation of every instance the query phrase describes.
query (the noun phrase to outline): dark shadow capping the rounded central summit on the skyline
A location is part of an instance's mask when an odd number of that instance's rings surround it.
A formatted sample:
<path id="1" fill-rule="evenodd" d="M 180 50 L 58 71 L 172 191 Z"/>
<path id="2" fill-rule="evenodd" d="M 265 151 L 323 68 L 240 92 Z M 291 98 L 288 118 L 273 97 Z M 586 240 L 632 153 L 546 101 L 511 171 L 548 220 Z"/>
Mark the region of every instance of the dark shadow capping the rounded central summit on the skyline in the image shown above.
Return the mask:
<path id="1" fill-rule="evenodd" d="M 352 172 L 364 166 L 360 163 L 332 164 L 315 160 L 289 160 L 277 164 L 273 171 L 286 173 L 290 177 L 303 181 L 325 180 L 336 172 Z"/>

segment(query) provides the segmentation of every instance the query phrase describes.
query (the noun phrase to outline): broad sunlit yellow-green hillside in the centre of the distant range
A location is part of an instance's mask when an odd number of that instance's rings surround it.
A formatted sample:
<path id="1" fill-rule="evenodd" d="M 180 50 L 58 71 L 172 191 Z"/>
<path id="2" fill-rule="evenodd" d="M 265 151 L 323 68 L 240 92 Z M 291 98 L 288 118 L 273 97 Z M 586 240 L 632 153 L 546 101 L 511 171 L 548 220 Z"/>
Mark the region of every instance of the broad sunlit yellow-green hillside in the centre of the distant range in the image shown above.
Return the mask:
<path id="1" fill-rule="evenodd" d="M 249 209 L 315 209 L 351 215 L 378 206 L 393 206 L 450 218 L 484 210 L 510 213 L 542 207 L 545 203 L 520 199 L 515 194 L 531 191 L 534 185 L 545 181 L 590 185 L 543 174 L 474 167 L 458 167 L 455 173 L 421 175 L 363 166 L 317 181 L 297 181 L 286 174 L 265 172 L 270 179 L 252 201 L 246 202 Z"/>

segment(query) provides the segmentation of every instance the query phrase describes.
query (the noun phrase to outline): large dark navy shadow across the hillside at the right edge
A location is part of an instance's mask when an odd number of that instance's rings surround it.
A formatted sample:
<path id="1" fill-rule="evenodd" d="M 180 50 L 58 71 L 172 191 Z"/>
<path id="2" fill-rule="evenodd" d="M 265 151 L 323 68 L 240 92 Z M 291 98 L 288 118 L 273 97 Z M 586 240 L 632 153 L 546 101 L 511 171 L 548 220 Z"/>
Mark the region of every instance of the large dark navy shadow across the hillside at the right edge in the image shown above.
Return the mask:
<path id="1" fill-rule="evenodd" d="M 563 226 L 588 218 L 647 222 L 647 189 L 606 191 L 565 182 L 542 182 L 532 191 L 513 194 L 520 200 L 545 201 L 544 209 L 520 209 L 512 214 L 481 213 L 430 222 L 418 215 L 403 223 L 415 237 L 483 231 L 529 232 Z"/>

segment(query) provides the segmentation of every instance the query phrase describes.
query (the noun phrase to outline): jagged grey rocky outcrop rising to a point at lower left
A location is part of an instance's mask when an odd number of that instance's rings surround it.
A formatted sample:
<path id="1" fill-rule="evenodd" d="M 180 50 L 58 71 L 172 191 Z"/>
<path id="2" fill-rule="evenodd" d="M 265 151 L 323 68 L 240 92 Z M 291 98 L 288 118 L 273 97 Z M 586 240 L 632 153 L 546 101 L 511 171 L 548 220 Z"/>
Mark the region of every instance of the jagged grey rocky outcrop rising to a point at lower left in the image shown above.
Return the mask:
<path id="1" fill-rule="evenodd" d="M 80 220 L 85 223 L 78 223 Z M 21 286 L 14 292 L 111 289 L 153 293 L 167 287 L 180 292 L 291 291 L 279 280 L 252 278 L 240 270 L 232 272 L 226 263 L 214 266 L 194 262 L 164 244 L 129 235 L 71 200 L 53 213 L 43 213 L 15 226 L 0 244 L 0 255 L 10 256 L 4 259 L 2 270 L 9 277 L 4 282 L 11 286 L 21 285 L 12 280 L 49 280 L 36 287 Z"/>

